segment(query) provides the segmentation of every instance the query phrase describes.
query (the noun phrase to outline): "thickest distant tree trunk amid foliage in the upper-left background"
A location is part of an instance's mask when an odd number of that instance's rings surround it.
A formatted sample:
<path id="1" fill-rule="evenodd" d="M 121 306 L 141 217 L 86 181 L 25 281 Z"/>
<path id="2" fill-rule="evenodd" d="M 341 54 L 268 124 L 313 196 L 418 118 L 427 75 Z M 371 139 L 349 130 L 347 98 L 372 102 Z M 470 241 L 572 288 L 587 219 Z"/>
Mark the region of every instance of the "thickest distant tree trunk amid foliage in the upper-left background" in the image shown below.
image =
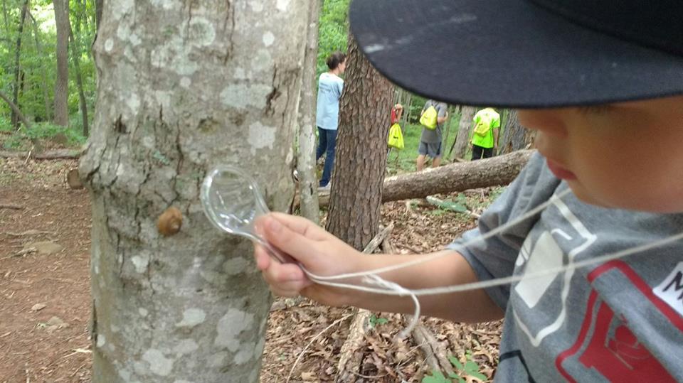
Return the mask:
<path id="1" fill-rule="evenodd" d="M 57 26 L 57 78 L 55 80 L 55 125 L 68 126 L 69 111 L 69 0 L 54 0 Z"/>

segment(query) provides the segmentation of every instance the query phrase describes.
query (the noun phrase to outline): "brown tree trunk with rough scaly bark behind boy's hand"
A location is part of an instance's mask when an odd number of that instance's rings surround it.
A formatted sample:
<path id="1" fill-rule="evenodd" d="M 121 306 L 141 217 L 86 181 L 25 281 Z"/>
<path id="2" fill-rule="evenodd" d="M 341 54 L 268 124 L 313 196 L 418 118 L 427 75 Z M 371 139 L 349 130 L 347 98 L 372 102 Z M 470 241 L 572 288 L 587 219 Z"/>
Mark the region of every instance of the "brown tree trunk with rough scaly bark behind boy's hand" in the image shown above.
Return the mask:
<path id="1" fill-rule="evenodd" d="M 346 61 L 327 230 L 360 250 L 379 228 L 393 88 L 351 33 Z"/>

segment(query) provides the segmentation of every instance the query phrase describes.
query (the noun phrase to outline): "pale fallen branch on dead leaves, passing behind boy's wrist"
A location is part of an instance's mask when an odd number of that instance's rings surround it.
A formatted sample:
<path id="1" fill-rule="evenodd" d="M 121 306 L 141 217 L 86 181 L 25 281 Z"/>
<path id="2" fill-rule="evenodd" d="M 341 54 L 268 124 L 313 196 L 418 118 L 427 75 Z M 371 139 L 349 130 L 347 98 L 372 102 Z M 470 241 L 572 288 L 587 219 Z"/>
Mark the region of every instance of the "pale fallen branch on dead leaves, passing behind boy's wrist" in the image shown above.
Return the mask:
<path id="1" fill-rule="evenodd" d="M 393 230 L 393 223 L 385 227 L 383 230 L 368 242 L 364 254 L 372 254 L 372 252 L 379 247 L 379 245 L 391 234 Z M 368 324 L 371 313 L 370 311 L 359 308 L 354 322 L 349 328 L 349 335 L 342 345 L 342 350 L 339 352 L 339 364 L 337 365 L 337 377 L 334 382 L 355 382 L 356 375 L 359 374 L 361 362 L 365 354 L 365 334 L 368 330 Z"/>

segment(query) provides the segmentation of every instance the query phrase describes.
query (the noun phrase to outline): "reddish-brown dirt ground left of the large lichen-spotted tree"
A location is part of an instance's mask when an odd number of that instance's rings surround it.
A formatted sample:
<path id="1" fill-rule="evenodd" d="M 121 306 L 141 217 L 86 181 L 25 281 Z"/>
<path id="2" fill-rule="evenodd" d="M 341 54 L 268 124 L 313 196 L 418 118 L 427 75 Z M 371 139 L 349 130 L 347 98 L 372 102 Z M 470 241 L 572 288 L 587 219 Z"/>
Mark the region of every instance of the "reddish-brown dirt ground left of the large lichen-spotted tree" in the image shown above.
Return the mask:
<path id="1" fill-rule="evenodd" d="M 0 205 L 22 207 L 0 209 L 0 382 L 90 380 L 90 201 L 63 182 L 73 166 L 0 163 Z"/>

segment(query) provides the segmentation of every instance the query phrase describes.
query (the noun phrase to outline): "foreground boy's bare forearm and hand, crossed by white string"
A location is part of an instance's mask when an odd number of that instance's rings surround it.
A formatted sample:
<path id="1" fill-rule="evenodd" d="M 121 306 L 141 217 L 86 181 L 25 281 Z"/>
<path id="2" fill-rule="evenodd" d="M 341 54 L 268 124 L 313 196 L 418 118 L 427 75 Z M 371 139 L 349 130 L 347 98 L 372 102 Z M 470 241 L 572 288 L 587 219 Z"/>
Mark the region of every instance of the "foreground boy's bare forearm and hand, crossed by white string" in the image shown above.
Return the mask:
<path id="1" fill-rule="evenodd" d="M 270 213 L 260 217 L 256 224 L 258 232 L 270 244 L 297 259 L 298 264 L 311 273 L 320 276 L 369 271 L 425 257 L 361 254 L 302 217 Z M 453 250 L 444 252 L 448 254 L 423 264 L 381 274 L 381 277 L 406 288 L 430 288 L 477 281 L 475 271 L 462 255 Z M 413 300 L 409 296 L 386 296 L 314 283 L 297 264 L 273 261 L 265 249 L 258 245 L 255 247 L 255 257 L 258 269 L 277 295 L 301 294 L 330 306 L 350 305 L 374 311 L 413 313 Z M 363 284 L 361 278 L 334 282 Z M 450 320 L 482 321 L 502 317 L 502 311 L 488 298 L 485 291 L 424 296 L 420 297 L 420 304 L 423 314 Z"/>

